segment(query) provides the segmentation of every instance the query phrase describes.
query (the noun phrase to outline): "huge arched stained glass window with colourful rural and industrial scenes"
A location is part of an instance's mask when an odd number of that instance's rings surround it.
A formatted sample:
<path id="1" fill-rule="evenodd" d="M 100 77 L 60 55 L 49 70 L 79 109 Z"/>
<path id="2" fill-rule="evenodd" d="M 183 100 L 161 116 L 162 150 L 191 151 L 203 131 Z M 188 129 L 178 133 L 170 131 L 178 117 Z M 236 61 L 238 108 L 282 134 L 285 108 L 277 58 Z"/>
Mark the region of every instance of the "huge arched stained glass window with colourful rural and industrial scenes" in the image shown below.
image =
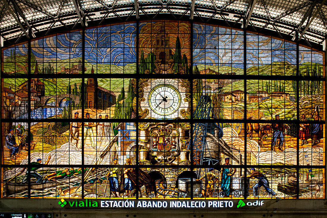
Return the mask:
<path id="1" fill-rule="evenodd" d="M 320 50 L 150 20 L 1 58 L 2 198 L 325 198 Z"/>

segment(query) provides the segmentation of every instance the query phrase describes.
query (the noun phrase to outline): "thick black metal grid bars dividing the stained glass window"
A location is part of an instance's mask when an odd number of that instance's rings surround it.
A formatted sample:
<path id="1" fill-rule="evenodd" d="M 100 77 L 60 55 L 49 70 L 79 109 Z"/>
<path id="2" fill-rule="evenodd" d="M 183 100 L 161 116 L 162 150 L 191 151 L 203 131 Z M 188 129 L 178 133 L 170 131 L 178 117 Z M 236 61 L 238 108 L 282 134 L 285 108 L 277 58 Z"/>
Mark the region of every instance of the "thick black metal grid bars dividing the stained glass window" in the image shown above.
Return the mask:
<path id="1" fill-rule="evenodd" d="M 153 21 L 156 21 L 156 20 L 153 20 Z M 162 20 L 161 20 L 162 21 Z M 168 20 L 167 20 L 168 21 Z M 170 21 L 170 20 L 169 20 Z M 190 30 L 190 37 L 191 37 L 191 47 L 189 48 L 190 49 L 190 64 L 192 66 L 192 70 L 190 71 L 190 74 L 140 74 L 139 73 L 139 23 L 141 23 L 143 21 L 137 21 L 136 22 L 136 42 L 135 42 L 135 45 L 136 45 L 136 74 L 86 74 L 85 73 L 85 27 L 82 28 L 82 73 L 81 74 L 68 74 L 68 75 L 63 75 L 63 74 L 38 74 L 39 78 L 80 78 L 82 79 L 82 90 L 84 90 L 84 81 L 88 78 L 135 78 L 137 80 L 137 90 L 139 88 L 139 79 L 141 78 L 147 78 L 147 79 L 156 79 L 156 78 L 165 78 L 165 79 L 188 79 L 189 83 L 190 83 L 190 87 L 191 87 L 191 96 L 193 96 L 193 80 L 194 79 L 204 79 L 204 78 L 208 78 L 208 79 L 234 79 L 234 76 L 235 75 L 203 75 L 203 74 L 199 74 L 199 75 L 195 75 L 193 74 L 193 47 L 192 47 L 192 42 L 193 42 L 193 22 L 191 21 L 190 22 L 190 26 L 191 26 L 191 30 Z M 211 25 L 210 23 L 203 23 L 203 24 L 206 24 L 206 25 Z M 223 27 L 223 26 L 222 26 Z M 94 27 L 96 28 L 96 26 Z M 300 76 L 299 74 L 299 43 L 296 43 L 296 47 L 297 47 L 297 71 L 296 71 L 296 76 L 272 76 L 272 75 L 247 75 L 246 73 L 246 70 L 247 70 L 247 64 L 246 64 L 246 58 L 247 58 L 247 46 L 246 46 L 246 33 L 247 33 L 247 30 L 244 29 L 243 30 L 243 34 L 244 34 L 244 74 L 243 75 L 237 75 L 237 79 L 241 79 L 241 80 L 244 80 L 244 93 L 247 92 L 247 80 L 250 80 L 250 79 L 253 79 L 253 80 L 295 80 L 296 81 L 296 84 L 297 84 L 297 93 L 296 93 L 296 99 L 297 99 L 297 119 L 296 120 L 291 120 L 291 121 L 283 121 L 283 120 L 280 120 L 279 122 L 280 123 L 292 123 L 292 124 L 296 124 L 297 125 L 297 128 L 299 130 L 299 124 L 301 123 L 300 121 L 300 117 L 299 117 L 299 82 L 302 81 L 302 80 L 309 80 L 309 81 L 314 81 L 314 80 L 318 80 L 318 81 L 322 81 L 324 82 L 324 86 L 326 86 L 326 77 L 323 77 L 321 79 L 311 79 L 311 78 L 303 78 Z M 296 40 L 297 41 L 297 40 Z M 2 48 L 3 49 L 3 48 Z M 3 50 L 1 51 L 3 52 Z M 324 51 L 323 51 L 324 52 Z M 3 56 L 2 56 L 3 57 Z M 326 55 L 324 55 L 324 63 L 326 63 L 326 60 L 327 60 L 327 57 Z M 3 59 L 2 59 L 3 61 Z M 323 66 L 325 67 L 325 66 Z M 13 78 L 12 76 L 8 75 L 8 74 L 4 74 L 3 71 L 1 72 L 1 77 L 2 79 L 3 78 Z M 15 76 L 16 78 L 26 78 L 28 79 L 28 87 L 30 88 L 31 87 L 31 79 L 34 78 L 35 76 L 31 73 L 31 40 L 28 41 L 28 74 L 27 75 L 18 75 L 18 76 Z M 3 80 L 1 80 L 1 83 Z M 2 86 L 1 86 L 2 87 Z M 327 91 L 326 91 L 326 87 L 325 87 L 325 93 L 324 94 L 324 100 L 325 100 L 325 96 L 327 94 Z M 82 95 L 81 95 L 81 99 L 82 99 L 82 102 L 84 102 L 84 99 L 85 99 L 85 96 L 84 96 L 84 92 L 82 92 Z M 1 95 L 1 98 L 2 98 L 2 95 Z M 136 94 L 136 102 L 139 102 L 139 97 L 138 97 L 138 94 Z M 3 99 L 1 99 L 2 101 Z M 35 122 L 35 119 L 31 119 L 31 105 L 30 105 L 30 102 L 31 102 L 31 92 L 30 92 L 30 89 L 28 89 L 28 101 L 29 101 L 29 105 L 28 105 L 28 118 L 27 119 L 19 119 L 19 120 L 16 120 L 16 121 L 24 121 L 24 122 L 27 122 L 28 123 L 28 132 L 30 132 L 30 125 L 31 125 L 31 122 Z M 325 100 L 326 101 L 326 100 Z M 247 116 L 246 116 L 246 113 L 247 113 L 247 96 L 245 95 L 244 96 L 244 119 L 240 119 L 240 120 L 234 120 L 234 119 L 201 119 L 201 120 L 197 120 L 197 119 L 182 119 L 182 120 L 161 120 L 161 119 L 157 119 L 157 120 L 153 120 L 153 119 L 139 119 L 139 114 L 138 114 L 138 110 L 135 111 L 136 112 L 136 118 L 135 119 L 111 119 L 111 122 L 122 122 L 122 123 L 129 123 L 129 122 L 134 122 L 134 126 L 136 128 L 136 142 L 139 141 L 139 123 L 144 123 L 144 122 L 149 122 L 149 123 L 155 123 L 155 122 L 174 122 L 174 123 L 190 123 L 191 125 L 191 129 L 190 129 L 190 133 L 193 132 L 193 124 L 194 123 L 198 123 L 198 122 L 202 122 L 202 123 L 215 123 L 215 122 L 219 122 L 219 123 L 243 123 L 244 126 L 246 126 L 247 123 L 251 122 L 251 123 L 261 123 L 262 120 L 251 120 L 249 121 L 247 119 Z M 192 117 L 192 114 L 193 114 L 193 97 L 191 98 L 191 117 Z M 326 106 L 326 105 L 325 105 Z M 77 122 L 85 122 L 85 114 L 84 114 L 84 104 L 82 104 L 82 117 L 81 119 L 78 119 Z M 327 116 L 326 116 L 326 113 L 324 115 L 324 119 L 325 121 L 327 120 L 326 119 Z M 1 123 L 5 123 L 5 122 L 8 122 L 8 121 L 12 121 L 11 119 L 1 119 Z M 38 120 L 39 122 L 58 122 L 58 119 L 40 119 Z M 62 122 L 70 122 L 71 119 L 61 119 L 60 121 Z M 98 119 L 89 119 L 88 122 L 90 121 L 99 121 Z M 321 121 L 319 122 L 319 124 L 323 124 L 325 125 L 326 122 L 325 121 Z M 266 123 L 272 123 L 272 122 L 275 122 L 273 120 L 265 120 Z M 303 123 L 303 122 L 302 122 Z M 308 121 L 306 123 L 317 123 L 317 122 L 312 122 L 312 121 Z M 82 137 L 82 164 L 81 165 L 43 165 L 43 167 L 46 167 L 46 168 L 67 168 L 67 167 L 81 167 L 82 170 L 84 171 L 84 168 L 90 168 L 90 167 L 95 167 L 95 168 L 110 168 L 112 166 L 115 166 L 115 167 L 124 167 L 124 165 L 86 165 L 84 164 L 84 129 L 81 128 L 81 135 L 83 136 Z M 1 125 L 1 132 L 3 132 L 3 129 L 2 129 L 2 125 Z M 4 135 L 2 134 L 2 142 L 4 141 L 3 140 L 3 137 Z M 190 134 L 190 137 L 191 137 L 191 141 L 190 143 L 193 144 L 193 135 Z M 325 134 L 324 134 L 324 138 L 326 139 L 326 131 L 325 131 Z M 30 143 L 30 142 L 28 142 Z M 245 137 L 244 137 L 244 143 L 245 143 L 245 146 L 244 146 L 244 160 L 247 160 L 247 136 L 246 136 L 246 133 L 245 133 Z M 326 140 L 325 140 L 325 149 L 326 149 Z M 138 146 L 137 146 L 138 148 Z M 325 152 L 326 150 L 324 150 Z M 136 152 L 136 158 L 138 160 L 138 154 L 139 154 L 139 150 L 137 150 Z M 191 151 L 190 153 L 190 160 L 192 158 L 192 155 L 193 154 L 193 151 Z M 28 167 L 30 168 L 31 165 L 31 152 L 30 152 L 30 149 L 28 149 L 28 164 L 27 165 L 5 165 L 3 164 L 1 166 L 1 173 L 3 173 L 3 168 L 6 168 L 6 167 L 11 167 L 11 168 L 22 168 L 22 167 Z M 255 167 L 255 168 L 295 168 L 297 170 L 297 196 L 296 198 L 299 199 L 299 170 L 301 168 L 323 168 L 325 169 L 325 174 L 324 174 L 324 177 L 326 179 L 326 175 L 327 175 L 327 170 L 326 170 L 326 160 L 327 160 L 327 157 L 325 155 L 325 159 L 324 159 L 324 165 L 322 166 L 312 166 L 312 165 L 308 165 L 308 166 L 302 166 L 300 165 L 299 163 L 299 137 L 297 137 L 297 157 L 296 157 L 296 160 L 297 160 L 297 164 L 294 165 L 294 166 L 290 166 L 290 165 L 280 165 L 280 166 L 274 166 L 274 165 L 271 165 L 271 166 L 267 166 L 267 165 L 248 165 L 247 162 L 245 161 L 245 164 L 244 165 L 231 165 L 230 167 L 232 168 L 243 168 L 244 170 L 244 173 L 245 173 L 245 176 L 247 175 L 247 170 L 246 169 L 249 169 L 249 168 L 252 168 L 252 167 Z M 192 163 L 192 160 L 191 160 L 191 163 Z M 145 168 L 145 166 L 147 168 L 151 167 L 151 168 L 187 168 L 187 169 L 190 169 L 191 171 L 195 171 L 196 168 L 210 168 L 210 166 L 207 166 L 207 165 L 188 165 L 188 166 L 185 166 L 185 165 L 182 165 L 182 166 L 170 166 L 170 165 L 167 165 L 167 166 L 158 166 L 158 165 L 139 165 L 138 163 L 136 165 L 133 165 L 133 168 L 135 168 L 136 170 L 136 176 L 138 177 L 138 169 L 140 168 Z M 1 176 L 1 178 L 3 178 L 3 175 Z M 30 182 L 30 172 L 28 171 L 28 198 L 31 198 L 31 182 Z M 84 181 L 84 173 L 82 173 L 82 181 Z M 191 180 L 192 181 L 192 180 Z M 84 183 L 84 182 L 83 182 Z M 191 184 L 193 183 L 193 181 L 191 182 Z M 2 186 L 3 183 L 0 184 L 0 186 Z M 246 187 L 248 186 L 248 184 L 246 184 Z M 327 189 L 327 185 L 326 183 L 324 184 L 324 188 L 325 188 L 325 195 L 326 195 L 326 189 Z M 1 187 L 1 189 L 3 189 L 3 187 Z M 191 195 L 191 199 L 193 199 L 193 191 L 191 191 L 192 195 Z M 84 185 L 82 185 L 82 198 L 84 198 Z M 138 195 L 136 195 L 136 198 L 139 198 Z M 246 197 L 245 197 L 246 198 Z"/>

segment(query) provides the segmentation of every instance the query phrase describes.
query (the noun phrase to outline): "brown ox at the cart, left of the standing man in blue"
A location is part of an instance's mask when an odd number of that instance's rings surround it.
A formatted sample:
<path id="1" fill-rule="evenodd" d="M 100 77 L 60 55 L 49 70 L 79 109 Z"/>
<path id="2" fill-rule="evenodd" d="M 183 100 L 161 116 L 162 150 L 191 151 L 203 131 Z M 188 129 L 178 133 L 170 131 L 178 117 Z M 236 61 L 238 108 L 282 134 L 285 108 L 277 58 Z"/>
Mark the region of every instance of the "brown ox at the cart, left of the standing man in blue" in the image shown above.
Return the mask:
<path id="1" fill-rule="evenodd" d="M 266 117 L 262 117 L 261 119 L 267 120 Z M 250 117 L 249 120 L 255 120 L 254 117 Z M 270 123 L 248 123 L 247 124 L 247 135 L 252 139 L 252 133 L 258 133 L 259 137 L 259 146 L 262 145 L 263 139 L 271 136 L 271 124 Z"/>

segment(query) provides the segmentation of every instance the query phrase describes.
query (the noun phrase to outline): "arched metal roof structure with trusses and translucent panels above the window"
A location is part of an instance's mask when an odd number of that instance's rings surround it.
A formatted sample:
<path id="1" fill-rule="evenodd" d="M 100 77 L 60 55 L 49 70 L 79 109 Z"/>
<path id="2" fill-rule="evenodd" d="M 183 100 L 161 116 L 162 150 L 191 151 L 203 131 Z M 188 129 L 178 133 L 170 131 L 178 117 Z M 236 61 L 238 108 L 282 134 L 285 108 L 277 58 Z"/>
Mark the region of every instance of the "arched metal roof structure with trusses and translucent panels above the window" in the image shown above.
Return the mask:
<path id="1" fill-rule="evenodd" d="M 108 22 L 167 17 L 269 32 L 309 46 L 322 44 L 327 33 L 326 0 L 5 0 L 0 9 L 4 45 Z"/>

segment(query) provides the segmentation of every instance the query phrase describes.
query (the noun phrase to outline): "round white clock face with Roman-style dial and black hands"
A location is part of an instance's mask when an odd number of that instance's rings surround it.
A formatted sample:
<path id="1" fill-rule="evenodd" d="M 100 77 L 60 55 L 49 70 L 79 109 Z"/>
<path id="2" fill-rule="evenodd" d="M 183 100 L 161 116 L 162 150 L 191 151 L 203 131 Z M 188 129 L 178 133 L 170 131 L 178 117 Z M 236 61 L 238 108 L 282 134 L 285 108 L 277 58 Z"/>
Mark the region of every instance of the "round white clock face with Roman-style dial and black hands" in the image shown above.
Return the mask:
<path id="1" fill-rule="evenodd" d="M 160 115 L 169 115 L 179 109 L 181 94 L 175 87 L 162 84 L 150 91 L 148 101 L 152 111 Z"/>

